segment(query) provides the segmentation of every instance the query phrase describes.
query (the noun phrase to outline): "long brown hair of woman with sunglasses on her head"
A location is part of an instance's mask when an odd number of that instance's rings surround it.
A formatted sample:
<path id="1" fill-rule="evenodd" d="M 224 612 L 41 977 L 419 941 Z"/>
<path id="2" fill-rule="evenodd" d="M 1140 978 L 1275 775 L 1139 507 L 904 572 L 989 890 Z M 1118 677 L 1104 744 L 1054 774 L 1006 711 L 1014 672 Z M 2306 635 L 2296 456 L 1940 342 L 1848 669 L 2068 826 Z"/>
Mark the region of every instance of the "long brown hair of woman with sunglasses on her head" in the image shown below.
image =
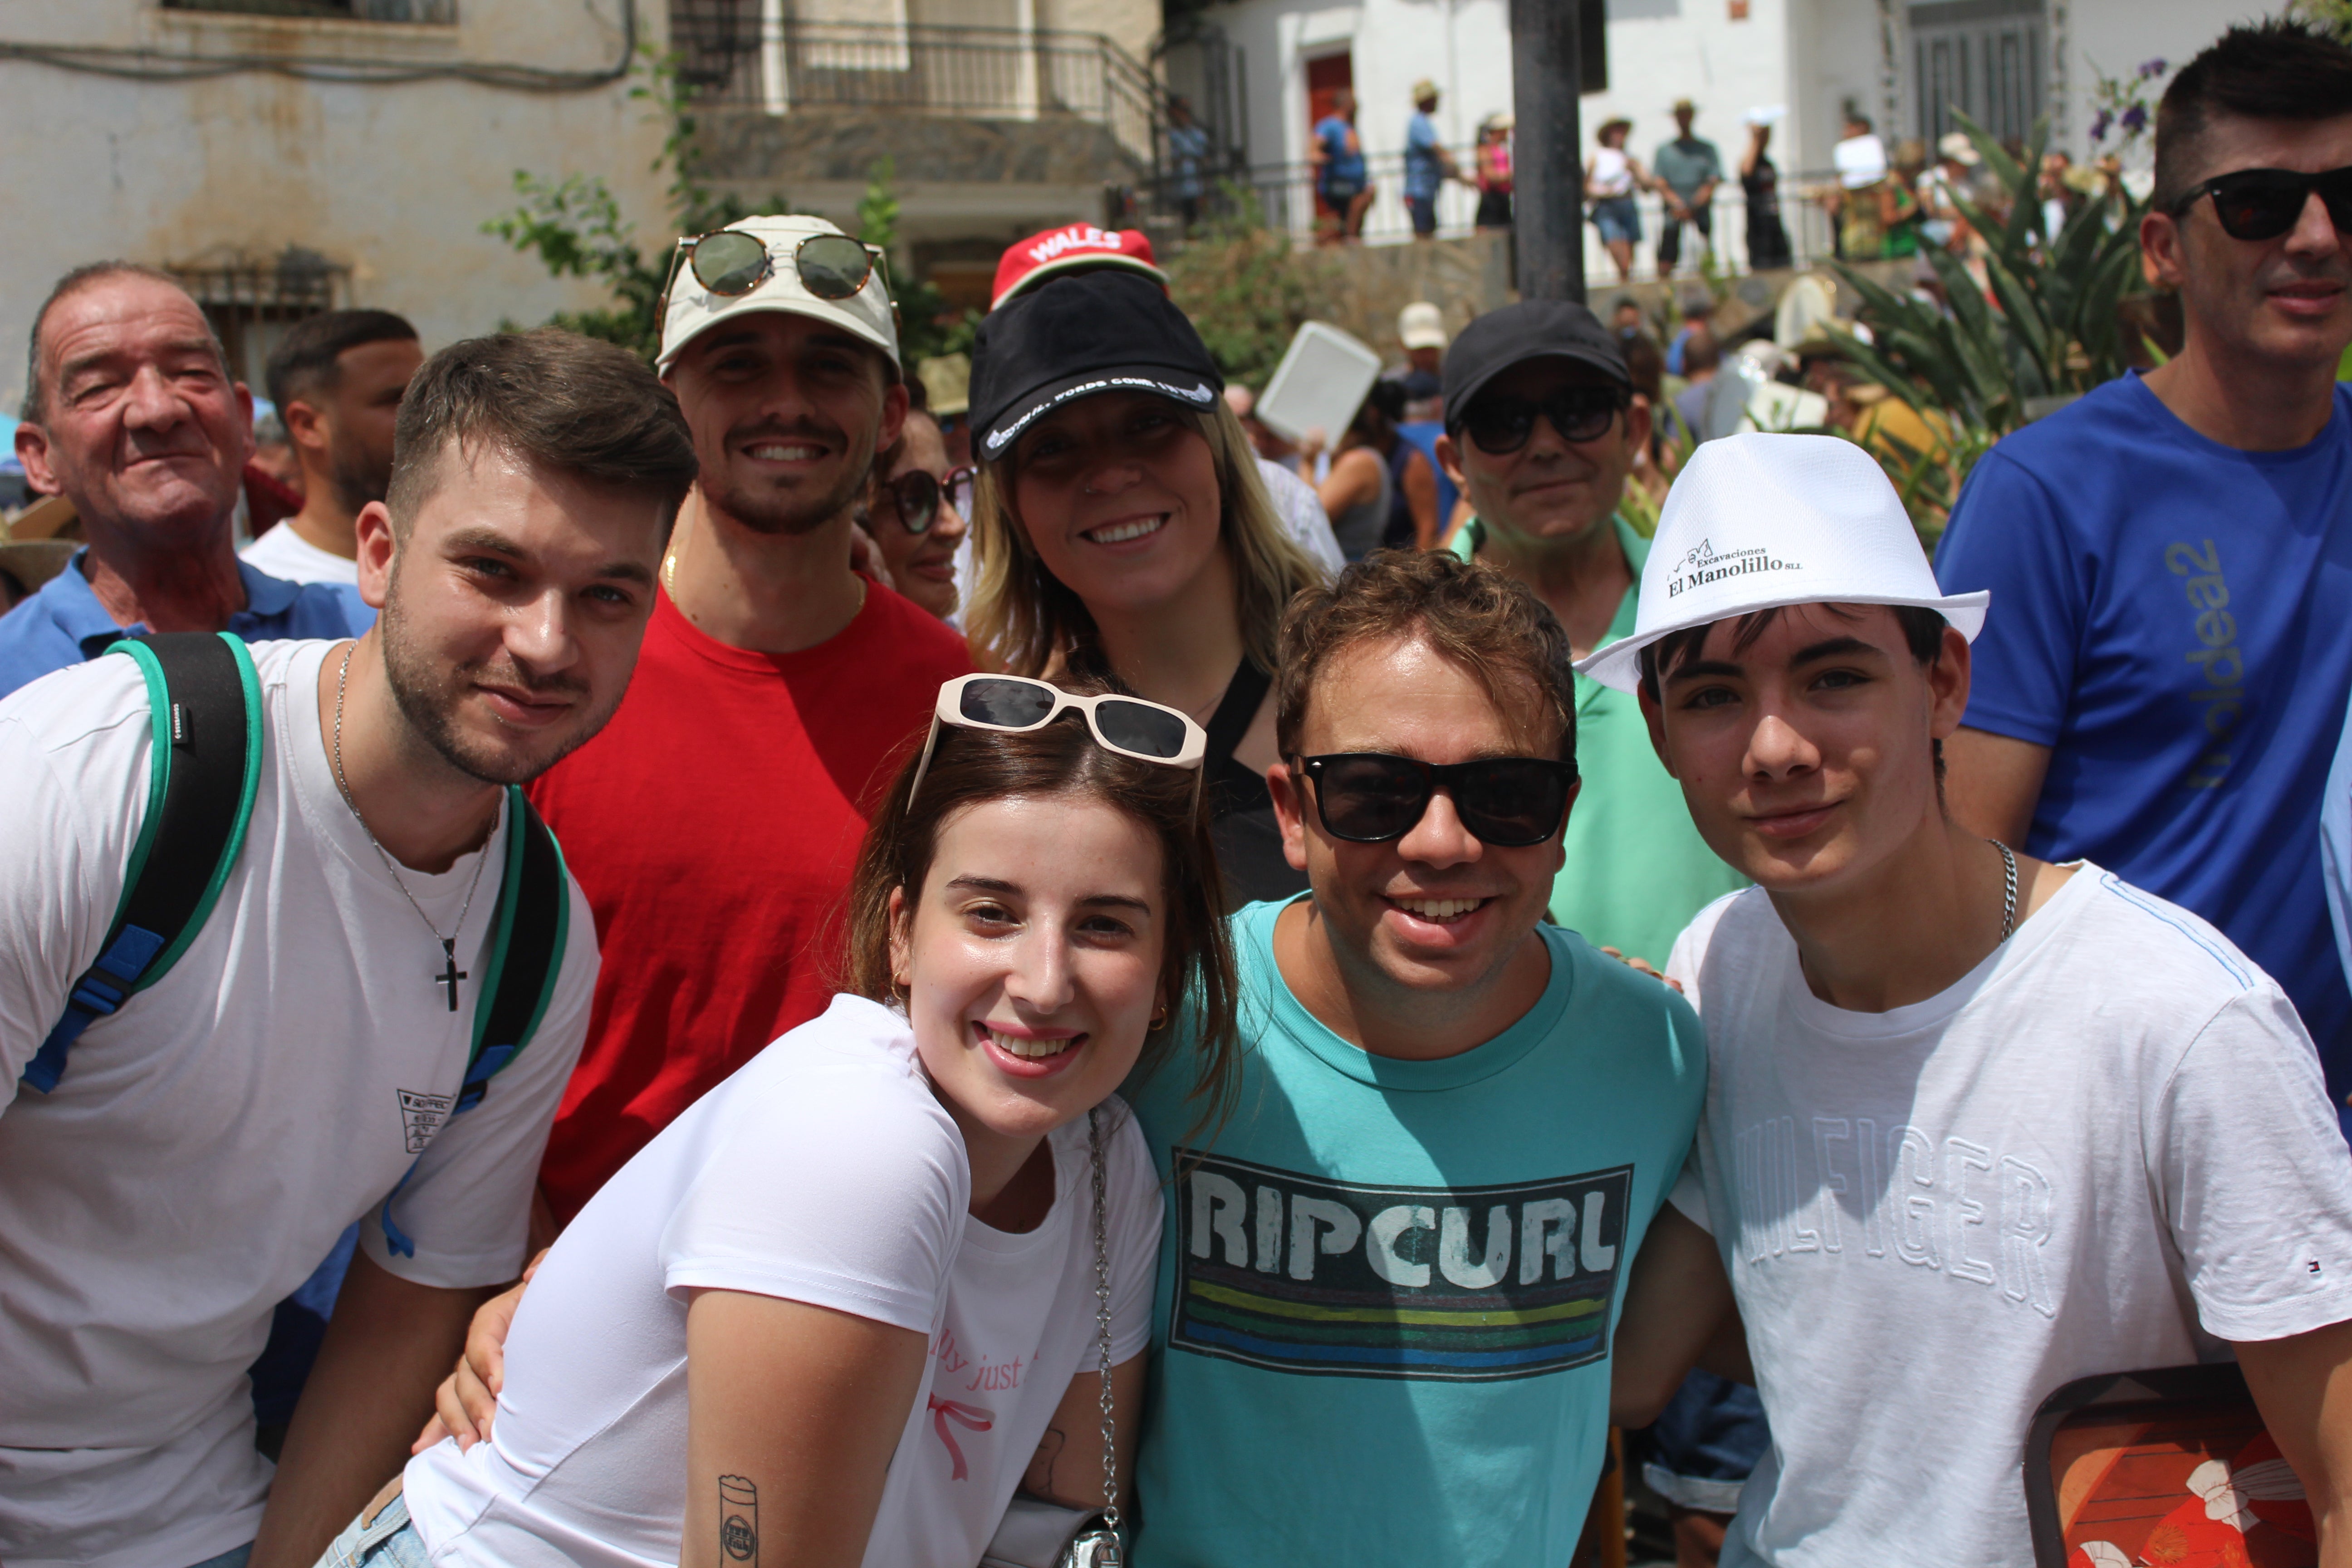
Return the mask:
<path id="1" fill-rule="evenodd" d="M 1080 679 L 1061 686 L 1080 696 L 1110 689 Z M 913 907 L 931 872 L 938 830 L 955 811 L 1007 797 L 1117 806 L 1160 844 L 1167 896 L 1160 985 L 1171 1016 L 1183 1011 L 1188 1018 L 1183 1030 L 1152 1030 L 1143 1037 L 1136 1074 L 1157 1072 L 1176 1037 L 1185 1034 L 1192 1051 L 1188 1098 L 1200 1105 L 1192 1135 L 1223 1121 L 1240 1077 L 1240 983 L 1223 919 L 1216 846 L 1209 839 L 1209 802 L 1200 795 L 1195 773 L 1103 750 L 1075 712 L 1021 733 L 941 724 L 931 762 L 922 771 L 922 795 L 910 799 L 917 766 L 922 752 L 910 750 L 858 849 L 858 867 L 849 879 L 842 990 L 870 1001 L 894 1001 L 889 896 L 906 889 L 906 905 Z"/>

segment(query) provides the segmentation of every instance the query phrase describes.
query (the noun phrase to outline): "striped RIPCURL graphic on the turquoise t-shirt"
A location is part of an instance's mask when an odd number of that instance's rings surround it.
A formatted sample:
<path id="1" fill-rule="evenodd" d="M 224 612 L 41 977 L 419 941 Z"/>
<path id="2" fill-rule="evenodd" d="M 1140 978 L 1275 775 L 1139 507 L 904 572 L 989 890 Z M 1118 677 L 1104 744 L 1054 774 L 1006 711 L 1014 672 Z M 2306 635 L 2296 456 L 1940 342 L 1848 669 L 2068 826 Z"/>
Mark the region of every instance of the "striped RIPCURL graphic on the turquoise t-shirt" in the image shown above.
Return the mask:
<path id="1" fill-rule="evenodd" d="M 1171 1349 L 1287 1373 L 1482 1382 L 1609 1352 L 1632 1166 L 1369 1187 L 1176 1152 Z"/>

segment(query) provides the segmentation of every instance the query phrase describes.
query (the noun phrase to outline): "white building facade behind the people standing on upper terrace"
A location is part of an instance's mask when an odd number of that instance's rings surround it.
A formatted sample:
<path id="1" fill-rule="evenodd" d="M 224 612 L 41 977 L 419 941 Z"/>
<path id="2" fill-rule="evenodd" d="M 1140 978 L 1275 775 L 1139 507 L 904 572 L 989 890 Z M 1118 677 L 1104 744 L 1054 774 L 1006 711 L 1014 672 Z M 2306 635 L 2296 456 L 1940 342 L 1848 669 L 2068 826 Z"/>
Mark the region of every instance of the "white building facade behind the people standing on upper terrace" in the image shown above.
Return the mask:
<path id="1" fill-rule="evenodd" d="M 2100 75 L 2131 75 L 2147 59 L 2178 66 L 2232 21 L 2258 14 L 2244 0 L 1599 2 L 1609 7 L 1609 87 L 1583 99 L 1588 153 L 1595 127 L 1623 115 L 1632 120 L 1628 150 L 1649 162 L 1675 134 L 1672 103 L 1686 96 L 1698 106 L 1696 132 L 1736 174 L 1745 115 L 1776 108 L 1771 155 L 1790 186 L 1830 167 L 1849 108 L 1870 115 L 1889 148 L 1912 136 L 1931 143 L 1950 129 L 1952 106 L 2002 136 L 2027 136 L 2034 118 L 2049 115 L 2051 146 L 2082 160 L 2096 150 L 2089 129 Z M 1404 233 L 1397 169 L 1416 82 L 1439 87 L 1437 127 L 1465 167 L 1479 120 L 1512 106 L 1508 0 L 1230 0 L 1204 19 L 1242 52 L 1249 165 L 1261 186 L 1270 188 L 1272 167 L 1308 160 L 1310 101 L 1348 80 L 1383 183 L 1367 237 Z M 1301 207 L 1296 195 L 1270 202 L 1291 221 L 1303 219 Z M 1442 228 L 1465 226 L 1472 207 L 1472 193 L 1449 190 Z M 1818 214 L 1792 214 L 1792 228 L 1797 216 L 1816 223 L 1825 244 Z M 1602 277 L 1597 240 L 1590 261 L 1588 275 Z"/>

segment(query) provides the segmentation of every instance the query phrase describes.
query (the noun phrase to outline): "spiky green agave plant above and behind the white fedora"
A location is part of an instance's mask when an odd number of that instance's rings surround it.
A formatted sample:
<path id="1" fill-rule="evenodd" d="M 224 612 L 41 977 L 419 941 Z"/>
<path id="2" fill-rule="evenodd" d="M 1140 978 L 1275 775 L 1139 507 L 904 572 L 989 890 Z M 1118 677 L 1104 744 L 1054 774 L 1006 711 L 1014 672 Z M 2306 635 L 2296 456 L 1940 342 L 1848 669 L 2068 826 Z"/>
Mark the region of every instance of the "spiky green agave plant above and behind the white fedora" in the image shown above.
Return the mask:
<path id="1" fill-rule="evenodd" d="M 1992 442 L 2044 411 L 2051 400 L 2089 393 L 2124 374 L 2129 360 L 2117 306 L 2145 289 L 2138 237 L 2143 202 L 2110 188 L 2084 202 L 2056 235 L 2046 233 L 2037 172 L 2049 120 L 2034 127 L 2023 162 L 1966 115 L 1955 120 L 2009 193 L 2002 223 L 1973 202 L 1957 202 L 1990 247 L 1985 284 L 1943 247 L 1929 249 L 1929 263 L 1950 299 L 1945 313 L 1933 301 L 1896 294 L 1860 270 L 1835 263 L 1863 296 L 1860 322 L 1870 327 L 1867 343 L 1842 334 L 1846 357 L 1924 418 L 1950 428 L 1940 454 L 1907 447 L 1882 454 L 1912 517 L 1924 524 L 1940 524 L 1969 465 Z"/>

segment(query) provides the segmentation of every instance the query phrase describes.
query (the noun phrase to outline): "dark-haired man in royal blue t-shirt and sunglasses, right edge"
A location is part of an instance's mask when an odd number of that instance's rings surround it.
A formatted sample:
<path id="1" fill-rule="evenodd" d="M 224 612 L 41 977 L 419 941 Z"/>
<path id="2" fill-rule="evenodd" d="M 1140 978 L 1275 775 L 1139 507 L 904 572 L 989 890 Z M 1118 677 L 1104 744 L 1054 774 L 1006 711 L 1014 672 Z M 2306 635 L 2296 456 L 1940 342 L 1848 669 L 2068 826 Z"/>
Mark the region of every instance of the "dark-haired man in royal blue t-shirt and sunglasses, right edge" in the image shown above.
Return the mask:
<path id="1" fill-rule="evenodd" d="M 2352 1093 L 2319 806 L 2352 696 L 2352 52 L 2232 28 L 2173 78 L 2140 221 L 2183 350 L 2018 430 L 1936 555 L 1990 588 L 1952 811 L 2211 919 Z"/>

